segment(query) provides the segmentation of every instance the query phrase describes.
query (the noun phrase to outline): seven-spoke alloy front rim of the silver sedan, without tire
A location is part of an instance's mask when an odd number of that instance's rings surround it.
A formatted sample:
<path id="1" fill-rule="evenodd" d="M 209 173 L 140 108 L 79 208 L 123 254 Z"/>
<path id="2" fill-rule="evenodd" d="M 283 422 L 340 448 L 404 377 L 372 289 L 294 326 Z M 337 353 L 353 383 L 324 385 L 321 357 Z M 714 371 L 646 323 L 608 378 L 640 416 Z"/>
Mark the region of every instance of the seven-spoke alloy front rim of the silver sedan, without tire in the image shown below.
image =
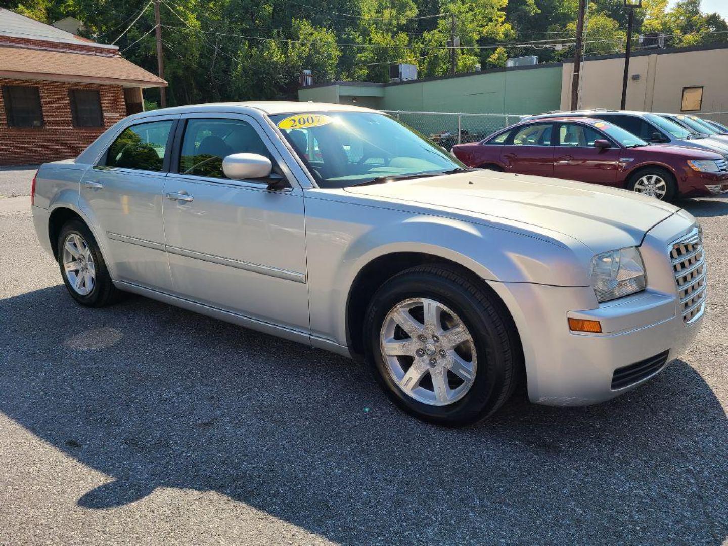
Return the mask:
<path id="1" fill-rule="evenodd" d="M 384 317 L 379 344 L 389 375 L 424 404 L 455 403 L 475 381 L 475 341 L 462 320 L 438 301 L 411 298 L 395 305 Z"/>

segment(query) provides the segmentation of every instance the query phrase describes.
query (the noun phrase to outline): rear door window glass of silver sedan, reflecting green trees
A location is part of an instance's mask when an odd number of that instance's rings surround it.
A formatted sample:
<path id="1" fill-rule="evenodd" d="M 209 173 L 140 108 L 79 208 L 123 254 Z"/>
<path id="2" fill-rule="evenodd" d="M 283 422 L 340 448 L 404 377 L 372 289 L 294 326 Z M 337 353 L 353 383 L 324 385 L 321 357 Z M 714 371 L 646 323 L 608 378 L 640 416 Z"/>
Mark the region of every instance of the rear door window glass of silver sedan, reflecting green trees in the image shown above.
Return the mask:
<path id="1" fill-rule="evenodd" d="M 127 127 L 106 152 L 106 167 L 149 170 L 164 169 L 173 120 Z"/>

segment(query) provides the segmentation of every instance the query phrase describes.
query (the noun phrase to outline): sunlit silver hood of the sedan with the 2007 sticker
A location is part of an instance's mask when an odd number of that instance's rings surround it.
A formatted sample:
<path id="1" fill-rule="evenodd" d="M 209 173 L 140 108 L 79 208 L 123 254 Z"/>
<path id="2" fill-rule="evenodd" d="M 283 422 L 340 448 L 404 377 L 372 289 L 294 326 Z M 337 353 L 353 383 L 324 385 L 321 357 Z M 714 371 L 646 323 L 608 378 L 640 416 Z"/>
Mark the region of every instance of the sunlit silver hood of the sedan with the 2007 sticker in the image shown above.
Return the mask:
<path id="1" fill-rule="evenodd" d="M 511 223 L 551 237 L 562 234 L 594 252 L 639 245 L 649 229 L 679 210 L 623 189 L 488 170 L 354 186 L 346 191 L 486 222 Z"/>

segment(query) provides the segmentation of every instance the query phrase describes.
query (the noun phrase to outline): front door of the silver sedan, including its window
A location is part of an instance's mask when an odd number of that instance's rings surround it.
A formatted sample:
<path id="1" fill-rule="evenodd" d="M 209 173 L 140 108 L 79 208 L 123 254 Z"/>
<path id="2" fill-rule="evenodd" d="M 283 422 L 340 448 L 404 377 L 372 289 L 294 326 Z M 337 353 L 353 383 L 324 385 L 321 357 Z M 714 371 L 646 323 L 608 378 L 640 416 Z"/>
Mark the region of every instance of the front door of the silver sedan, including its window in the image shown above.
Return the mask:
<path id="1" fill-rule="evenodd" d="M 249 116 L 190 114 L 181 124 L 164 199 L 174 292 L 308 331 L 303 192 L 297 186 L 268 189 L 266 181 L 234 181 L 223 174 L 223 157 L 240 152 L 282 165 Z"/>

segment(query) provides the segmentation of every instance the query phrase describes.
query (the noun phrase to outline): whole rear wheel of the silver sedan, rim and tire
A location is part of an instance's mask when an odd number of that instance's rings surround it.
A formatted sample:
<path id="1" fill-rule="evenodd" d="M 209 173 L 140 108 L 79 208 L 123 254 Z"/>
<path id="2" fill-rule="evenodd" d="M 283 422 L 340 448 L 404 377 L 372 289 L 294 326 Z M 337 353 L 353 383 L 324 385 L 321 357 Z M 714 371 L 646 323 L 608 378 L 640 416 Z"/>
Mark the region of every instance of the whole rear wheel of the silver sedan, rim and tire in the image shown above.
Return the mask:
<path id="1" fill-rule="evenodd" d="M 79 304 L 102 307 L 119 297 L 91 230 L 81 221 L 68 221 L 58 235 L 58 264 L 63 283 Z"/>

